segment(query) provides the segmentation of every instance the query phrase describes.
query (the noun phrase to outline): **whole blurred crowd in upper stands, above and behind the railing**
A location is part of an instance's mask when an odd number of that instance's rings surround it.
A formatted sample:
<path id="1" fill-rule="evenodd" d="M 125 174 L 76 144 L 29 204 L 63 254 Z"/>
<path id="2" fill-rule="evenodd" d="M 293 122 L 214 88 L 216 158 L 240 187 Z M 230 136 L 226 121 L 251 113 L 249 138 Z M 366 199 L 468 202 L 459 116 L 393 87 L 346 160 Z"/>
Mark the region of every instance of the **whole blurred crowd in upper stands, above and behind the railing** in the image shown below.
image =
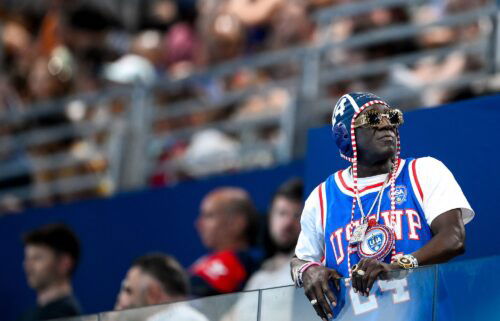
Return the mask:
<path id="1" fill-rule="evenodd" d="M 297 62 L 283 61 L 262 68 L 235 67 L 224 75 L 203 74 L 180 86 L 163 85 L 190 79 L 197 72 L 231 59 L 340 42 L 389 26 L 435 22 L 491 1 L 429 1 L 425 5 L 375 9 L 327 23 L 316 21 L 318 10 L 351 2 L 357 1 L 3 1 L 0 117 L 9 118 L 9 122 L 0 128 L 0 164 L 15 163 L 18 169 L 30 173 L 0 177 L 0 189 L 34 186 L 30 193 L 36 204 L 111 194 L 115 182 L 106 146 L 113 142 L 120 122 L 130 114 L 127 104 L 132 101 L 129 94 L 133 90 L 118 98 L 97 101 L 61 99 L 118 85 L 152 86 L 147 98 L 155 106 L 155 117 L 149 132 L 166 138 L 144 147 L 146 158 L 155 160 L 148 167 L 150 185 L 163 186 L 211 173 L 267 166 L 277 160 L 272 148 L 260 150 L 257 156 L 254 151 L 248 152 L 250 157 L 245 164 L 241 160 L 243 141 L 264 141 L 276 147 L 285 139 L 279 124 L 241 135 L 204 128 L 223 121 L 286 112 L 292 100 L 290 90 L 297 88 L 280 84 L 301 77 Z M 457 27 L 434 27 L 409 38 L 362 48 L 334 48 L 325 53 L 321 69 L 335 75 L 337 69 L 346 66 L 473 41 L 491 28 L 491 21 L 483 19 Z M 410 93 L 410 107 L 432 106 L 474 96 L 481 90 L 478 92 L 470 85 L 459 89 L 428 88 L 422 92 L 421 86 L 431 81 L 453 80 L 483 67 L 484 61 L 478 55 L 456 50 L 444 57 L 417 59 L 361 77 L 325 82 L 320 84 L 320 92 L 326 97 L 337 97 L 357 90 L 377 92 L 393 88 Z M 231 93 L 249 88 L 258 90 L 226 100 Z M 24 117 L 44 109 L 42 102 L 46 101 L 60 108 Z M 185 101 L 190 104 L 179 105 Z M 185 111 L 179 113 L 177 107 L 183 106 Z M 89 131 L 88 126 L 95 130 Z M 199 128 L 193 135 L 174 135 L 193 127 Z M 37 135 L 39 130 L 54 128 L 64 129 L 65 134 L 47 133 L 52 137 L 47 139 Z M 29 135 L 28 146 L 14 139 L 26 133 L 33 134 L 36 142 Z M 48 157 L 52 158 L 47 160 Z M 61 163 L 59 159 L 69 165 L 54 165 Z M 74 180 L 79 176 L 93 179 L 93 183 L 74 189 Z M 16 211 L 25 205 L 22 198 L 7 195 L 0 199 L 0 212 Z"/>

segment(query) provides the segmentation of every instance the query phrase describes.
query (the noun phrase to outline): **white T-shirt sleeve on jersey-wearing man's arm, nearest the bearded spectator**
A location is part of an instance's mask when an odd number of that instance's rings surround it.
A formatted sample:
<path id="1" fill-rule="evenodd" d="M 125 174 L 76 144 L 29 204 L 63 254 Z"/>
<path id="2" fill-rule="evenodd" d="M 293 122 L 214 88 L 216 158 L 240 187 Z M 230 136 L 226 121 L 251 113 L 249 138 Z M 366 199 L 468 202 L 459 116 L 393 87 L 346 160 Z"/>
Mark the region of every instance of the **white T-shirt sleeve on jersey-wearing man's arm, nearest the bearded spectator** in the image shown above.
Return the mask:
<path id="1" fill-rule="evenodd" d="M 321 185 L 320 185 L 321 186 Z M 321 221 L 320 186 L 309 195 L 300 218 L 301 231 L 295 255 L 305 261 L 321 262 L 324 258 L 324 230 Z"/>

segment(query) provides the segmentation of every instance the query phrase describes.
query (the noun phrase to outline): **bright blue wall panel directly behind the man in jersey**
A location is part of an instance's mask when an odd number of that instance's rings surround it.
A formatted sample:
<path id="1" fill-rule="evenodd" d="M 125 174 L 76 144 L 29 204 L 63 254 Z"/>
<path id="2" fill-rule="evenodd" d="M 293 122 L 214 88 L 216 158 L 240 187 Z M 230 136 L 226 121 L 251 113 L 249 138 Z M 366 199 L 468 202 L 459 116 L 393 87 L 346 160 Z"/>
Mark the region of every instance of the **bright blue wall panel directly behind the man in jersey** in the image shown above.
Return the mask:
<path id="1" fill-rule="evenodd" d="M 452 171 L 476 212 L 466 226 L 467 252 L 460 259 L 500 254 L 495 236 L 500 188 L 500 95 L 405 114 L 402 157 L 433 156 Z M 331 173 L 348 166 L 330 126 L 311 130 L 305 168 L 309 193 Z"/>

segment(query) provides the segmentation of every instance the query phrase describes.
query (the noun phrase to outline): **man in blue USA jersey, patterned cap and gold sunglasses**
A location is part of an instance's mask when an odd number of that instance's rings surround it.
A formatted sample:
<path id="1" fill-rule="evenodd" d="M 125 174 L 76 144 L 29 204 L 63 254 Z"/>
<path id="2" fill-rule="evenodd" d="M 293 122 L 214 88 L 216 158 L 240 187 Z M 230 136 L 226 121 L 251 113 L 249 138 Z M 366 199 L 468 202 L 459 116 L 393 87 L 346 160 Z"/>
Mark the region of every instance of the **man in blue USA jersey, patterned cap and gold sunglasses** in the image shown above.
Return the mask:
<path id="1" fill-rule="evenodd" d="M 474 212 L 439 160 L 399 157 L 402 124 L 401 111 L 373 94 L 346 94 L 335 105 L 335 143 L 352 165 L 309 195 L 291 262 L 296 285 L 322 319 L 333 317 L 338 303 L 330 281 L 338 289 L 339 279 L 349 278 L 355 295 L 368 297 L 391 271 L 465 251 L 464 224 Z"/>

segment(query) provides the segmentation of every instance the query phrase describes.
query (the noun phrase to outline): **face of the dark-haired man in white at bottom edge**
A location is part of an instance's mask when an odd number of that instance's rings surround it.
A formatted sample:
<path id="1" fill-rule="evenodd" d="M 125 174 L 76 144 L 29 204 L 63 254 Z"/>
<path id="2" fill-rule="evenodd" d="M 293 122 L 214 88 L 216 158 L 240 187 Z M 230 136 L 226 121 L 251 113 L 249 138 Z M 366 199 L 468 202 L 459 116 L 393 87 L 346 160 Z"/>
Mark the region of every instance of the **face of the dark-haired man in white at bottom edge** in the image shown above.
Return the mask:
<path id="1" fill-rule="evenodd" d="M 148 276 L 142 273 L 140 268 L 132 267 L 128 270 L 116 300 L 115 310 L 147 306 L 148 281 Z"/>

